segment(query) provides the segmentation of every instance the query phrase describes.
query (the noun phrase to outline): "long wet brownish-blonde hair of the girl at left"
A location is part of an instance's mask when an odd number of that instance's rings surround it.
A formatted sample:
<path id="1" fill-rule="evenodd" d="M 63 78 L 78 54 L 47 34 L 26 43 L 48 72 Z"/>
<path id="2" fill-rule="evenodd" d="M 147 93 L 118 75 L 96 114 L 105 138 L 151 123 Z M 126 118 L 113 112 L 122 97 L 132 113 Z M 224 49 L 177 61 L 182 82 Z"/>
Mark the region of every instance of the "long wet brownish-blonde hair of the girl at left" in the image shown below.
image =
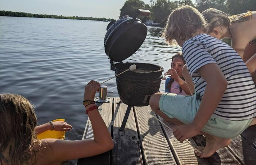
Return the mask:
<path id="1" fill-rule="evenodd" d="M 33 105 L 27 99 L 19 94 L 0 94 L 0 153 L 10 145 L 8 165 L 32 163 L 28 162 L 32 158 L 36 161 L 34 146 L 41 144 L 34 132 L 36 125 Z"/>

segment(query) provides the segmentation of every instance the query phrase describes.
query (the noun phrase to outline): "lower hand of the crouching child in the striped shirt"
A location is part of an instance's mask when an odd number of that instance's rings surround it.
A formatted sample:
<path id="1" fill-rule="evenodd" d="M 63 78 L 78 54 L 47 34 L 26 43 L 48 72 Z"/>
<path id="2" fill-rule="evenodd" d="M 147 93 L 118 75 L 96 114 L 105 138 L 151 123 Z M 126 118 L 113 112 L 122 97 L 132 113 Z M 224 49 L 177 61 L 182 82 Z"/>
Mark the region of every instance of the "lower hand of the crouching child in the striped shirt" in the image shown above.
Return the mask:
<path id="1" fill-rule="evenodd" d="M 196 129 L 192 123 L 189 123 L 174 128 L 172 132 L 176 139 L 183 143 L 185 139 L 198 135 L 200 130 Z"/>

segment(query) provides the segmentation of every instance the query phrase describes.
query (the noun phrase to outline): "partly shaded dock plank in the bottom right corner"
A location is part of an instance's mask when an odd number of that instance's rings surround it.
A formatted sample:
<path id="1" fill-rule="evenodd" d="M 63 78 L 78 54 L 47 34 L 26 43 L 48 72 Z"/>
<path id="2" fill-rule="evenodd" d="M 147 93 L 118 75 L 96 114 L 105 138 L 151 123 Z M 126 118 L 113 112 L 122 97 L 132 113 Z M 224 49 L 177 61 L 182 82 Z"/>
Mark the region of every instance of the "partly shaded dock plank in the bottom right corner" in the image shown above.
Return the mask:
<path id="1" fill-rule="evenodd" d="M 231 139 L 227 147 L 241 164 L 252 165 L 256 162 L 256 149 L 240 135 Z"/>

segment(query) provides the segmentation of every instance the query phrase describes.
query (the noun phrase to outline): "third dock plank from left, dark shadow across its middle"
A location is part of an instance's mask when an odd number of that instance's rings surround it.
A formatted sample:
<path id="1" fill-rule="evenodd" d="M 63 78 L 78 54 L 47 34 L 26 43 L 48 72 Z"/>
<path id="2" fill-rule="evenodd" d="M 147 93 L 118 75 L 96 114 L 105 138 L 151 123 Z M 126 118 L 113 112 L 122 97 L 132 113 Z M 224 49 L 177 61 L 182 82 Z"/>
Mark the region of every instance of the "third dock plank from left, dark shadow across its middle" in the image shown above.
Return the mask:
<path id="1" fill-rule="evenodd" d="M 176 165 L 170 147 L 159 125 L 153 118 L 150 106 L 135 107 L 138 132 L 142 143 L 142 154 L 146 165 Z"/>

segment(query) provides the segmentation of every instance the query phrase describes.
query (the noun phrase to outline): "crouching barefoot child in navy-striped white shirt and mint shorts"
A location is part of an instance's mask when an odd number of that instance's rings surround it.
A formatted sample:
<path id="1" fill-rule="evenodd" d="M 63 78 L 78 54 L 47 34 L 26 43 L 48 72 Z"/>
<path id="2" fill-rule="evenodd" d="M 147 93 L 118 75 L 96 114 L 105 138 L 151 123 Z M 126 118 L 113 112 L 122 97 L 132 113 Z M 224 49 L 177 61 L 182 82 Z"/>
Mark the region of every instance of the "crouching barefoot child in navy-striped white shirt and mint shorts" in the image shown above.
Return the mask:
<path id="1" fill-rule="evenodd" d="M 174 136 L 183 142 L 199 133 L 205 147 L 195 150 L 200 158 L 210 157 L 230 144 L 256 116 L 256 89 L 246 64 L 229 45 L 206 34 L 200 12 L 182 6 L 169 15 L 163 36 L 182 47 L 195 94 L 155 93 L 149 100 L 152 110 L 178 126 Z"/>

